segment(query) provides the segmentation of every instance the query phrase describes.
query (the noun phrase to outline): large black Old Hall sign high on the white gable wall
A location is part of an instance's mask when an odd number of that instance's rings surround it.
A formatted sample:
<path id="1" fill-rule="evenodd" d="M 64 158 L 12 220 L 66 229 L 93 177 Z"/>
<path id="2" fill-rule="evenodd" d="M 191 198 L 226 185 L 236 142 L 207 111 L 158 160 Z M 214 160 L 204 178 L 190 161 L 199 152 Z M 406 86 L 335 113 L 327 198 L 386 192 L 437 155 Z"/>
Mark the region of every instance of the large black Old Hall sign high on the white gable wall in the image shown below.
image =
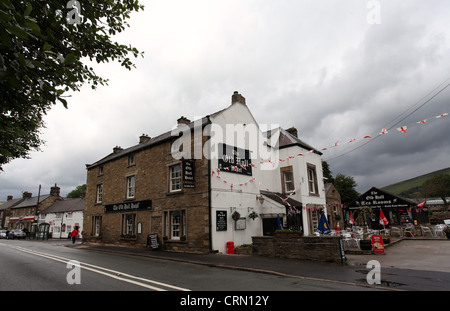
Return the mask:
<path id="1" fill-rule="evenodd" d="M 252 176 L 250 150 L 220 143 L 219 169 L 223 172 Z"/>

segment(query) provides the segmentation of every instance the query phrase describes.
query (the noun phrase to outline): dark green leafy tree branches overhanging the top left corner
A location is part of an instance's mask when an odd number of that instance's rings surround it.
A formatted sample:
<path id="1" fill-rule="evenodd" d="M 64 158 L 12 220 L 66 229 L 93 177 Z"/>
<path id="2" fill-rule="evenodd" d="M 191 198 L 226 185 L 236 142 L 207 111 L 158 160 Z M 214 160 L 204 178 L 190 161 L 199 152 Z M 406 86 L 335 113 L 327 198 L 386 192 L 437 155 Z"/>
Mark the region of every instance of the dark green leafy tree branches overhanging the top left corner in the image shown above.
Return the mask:
<path id="1" fill-rule="evenodd" d="M 138 0 L 0 1 L 0 170 L 39 150 L 43 116 L 67 108 L 67 91 L 107 83 L 83 60 L 134 67 L 136 48 L 111 40 L 128 27 Z"/>

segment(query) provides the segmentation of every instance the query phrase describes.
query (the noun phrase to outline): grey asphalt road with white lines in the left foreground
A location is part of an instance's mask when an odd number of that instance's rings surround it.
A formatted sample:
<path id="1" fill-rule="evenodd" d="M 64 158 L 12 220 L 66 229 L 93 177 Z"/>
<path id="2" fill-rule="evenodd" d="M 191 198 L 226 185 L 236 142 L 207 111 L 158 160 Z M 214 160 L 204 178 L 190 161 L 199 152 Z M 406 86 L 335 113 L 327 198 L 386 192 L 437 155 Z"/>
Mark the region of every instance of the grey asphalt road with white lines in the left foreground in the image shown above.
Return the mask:
<path id="1" fill-rule="evenodd" d="M 0 290 L 233 292 L 373 290 L 332 282 L 95 252 L 65 247 L 67 243 L 66 240 L 51 243 L 0 240 L 2 263 Z M 73 260 L 78 261 L 81 268 L 68 265 L 73 263 Z"/>

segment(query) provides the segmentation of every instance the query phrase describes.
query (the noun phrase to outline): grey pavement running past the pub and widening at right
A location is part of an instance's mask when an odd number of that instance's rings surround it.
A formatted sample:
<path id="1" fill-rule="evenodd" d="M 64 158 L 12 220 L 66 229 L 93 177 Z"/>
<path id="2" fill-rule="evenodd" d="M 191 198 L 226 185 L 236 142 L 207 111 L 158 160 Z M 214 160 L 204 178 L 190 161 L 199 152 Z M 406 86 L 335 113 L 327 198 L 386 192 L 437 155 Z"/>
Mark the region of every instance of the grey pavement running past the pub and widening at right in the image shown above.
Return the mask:
<path id="1" fill-rule="evenodd" d="M 222 269 L 353 285 L 360 288 L 369 287 L 374 290 L 450 290 L 450 261 L 448 261 L 450 241 L 446 239 L 401 239 L 386 247 L 384 255 L 347 254 L 345 264 L 221 253 L 178 253 L 111 245 L 69 246 Z M 366 276 L 372 267 L 367 268 L 366 265 L 372 259 L 378 260 L 381 265 L 381 284 L 379 285 L 370 285 L 367 282 Z"/>

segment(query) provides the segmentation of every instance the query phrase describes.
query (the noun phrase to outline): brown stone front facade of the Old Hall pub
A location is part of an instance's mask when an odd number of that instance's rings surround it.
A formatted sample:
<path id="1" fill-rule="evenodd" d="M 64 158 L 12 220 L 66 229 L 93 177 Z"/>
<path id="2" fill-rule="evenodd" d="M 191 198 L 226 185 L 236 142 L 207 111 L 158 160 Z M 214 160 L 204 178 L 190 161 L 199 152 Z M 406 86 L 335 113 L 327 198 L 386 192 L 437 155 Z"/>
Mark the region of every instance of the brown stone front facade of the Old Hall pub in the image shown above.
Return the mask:
<path id="1" fill-rule="evenodd" d="M 157 234 L 164 249 L 210 250 L 208 160 L 192 160 L 195 181 L 189 184 L 193 188 L 185 187 L 187 182 L 181 180 L 181 189 L 171 191 L 171 166 L 183 165 L 182 160 L 173 158 L 172 143 L 173 139 L 168 139 L 146 148 L 133 148 L 133 152 L 114 148 L 116 155 L 109 155 L 110 161 L 100 160 L 88 166 L 83 237 L 86 243 L 145 247 L 148 235 Z M 130 198 L 127 183 L 132 176 L 134 196 Z M 105 208 L 150 200 L 151 207 L 146 210 Z M 173 215 L 178 216 L 178 227 L 172 223 Z M 174 228 L 178 230 L 176 234 Z"/>

